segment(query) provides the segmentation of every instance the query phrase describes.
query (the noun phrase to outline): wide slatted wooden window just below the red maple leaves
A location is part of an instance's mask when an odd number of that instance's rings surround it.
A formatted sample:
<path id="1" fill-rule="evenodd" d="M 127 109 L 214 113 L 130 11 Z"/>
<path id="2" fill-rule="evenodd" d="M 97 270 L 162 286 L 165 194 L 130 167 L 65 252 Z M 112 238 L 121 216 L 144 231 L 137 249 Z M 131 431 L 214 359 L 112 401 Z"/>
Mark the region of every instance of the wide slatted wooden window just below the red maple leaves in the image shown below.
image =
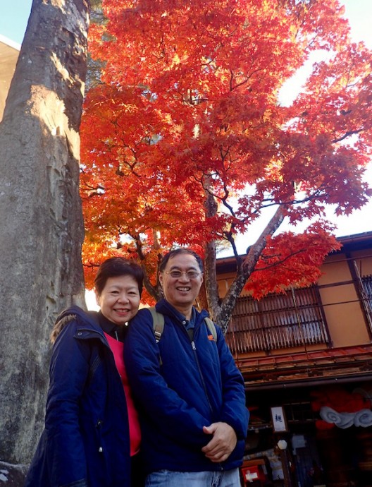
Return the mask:
<path id="1" fill-rule="evenodd" d="M 233 354 L 328 343 L 318 288 L 290 289 L 260 301 L 240 297 L 226 341 Z"/>

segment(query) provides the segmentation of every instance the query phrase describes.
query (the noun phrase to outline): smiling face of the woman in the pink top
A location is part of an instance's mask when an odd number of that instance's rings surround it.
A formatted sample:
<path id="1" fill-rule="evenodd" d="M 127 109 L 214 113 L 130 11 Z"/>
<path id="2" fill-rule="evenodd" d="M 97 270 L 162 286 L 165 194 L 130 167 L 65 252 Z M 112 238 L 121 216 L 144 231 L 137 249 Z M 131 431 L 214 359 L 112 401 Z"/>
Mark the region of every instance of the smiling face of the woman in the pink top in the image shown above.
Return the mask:
<path id="1" fill-rule="evenodd" d="M 116 325 L 123 326 L 138 311 L 140 291 L 130 275 L 109 277 L 100 295 L 96 291 L 101 313 Z"/>

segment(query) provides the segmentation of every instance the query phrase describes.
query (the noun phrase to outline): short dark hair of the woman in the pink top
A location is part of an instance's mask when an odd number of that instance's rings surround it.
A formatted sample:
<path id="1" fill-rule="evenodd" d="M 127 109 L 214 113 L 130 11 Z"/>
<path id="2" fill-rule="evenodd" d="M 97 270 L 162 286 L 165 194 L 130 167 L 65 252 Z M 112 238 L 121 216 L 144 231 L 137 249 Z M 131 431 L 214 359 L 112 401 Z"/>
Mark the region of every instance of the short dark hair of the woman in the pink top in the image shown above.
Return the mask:
<path id="1" fill-rule="evenodd" d="M 118 276 L 131 276 L 138 284 L 140 295 L 142 294 L 144 272 L 141 266 L 123 257 L 111 257 L 101 263 L 94 278 L 94 287 L 96 288 L 97 294 L 99 296 L 101 295 L 101 292 L 106 286 L 107 279 Z"/>

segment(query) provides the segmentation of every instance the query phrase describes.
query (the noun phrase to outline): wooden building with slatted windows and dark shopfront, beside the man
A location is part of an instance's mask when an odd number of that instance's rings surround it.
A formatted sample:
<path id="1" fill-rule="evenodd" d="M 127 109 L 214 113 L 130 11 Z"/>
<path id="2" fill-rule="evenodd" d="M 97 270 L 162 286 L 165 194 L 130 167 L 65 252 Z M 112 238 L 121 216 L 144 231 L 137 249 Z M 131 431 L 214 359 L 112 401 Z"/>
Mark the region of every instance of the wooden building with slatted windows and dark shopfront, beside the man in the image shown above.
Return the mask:
<path id="1" fill-rule="evenodd" d="M 244 486 L 372 486 L 372 232 L 340 243 L 313 287 L 243 293 L 235 306 L 226 338 L 251 411 Z M 223 296 L 233 258 L 217 269 Z"/>

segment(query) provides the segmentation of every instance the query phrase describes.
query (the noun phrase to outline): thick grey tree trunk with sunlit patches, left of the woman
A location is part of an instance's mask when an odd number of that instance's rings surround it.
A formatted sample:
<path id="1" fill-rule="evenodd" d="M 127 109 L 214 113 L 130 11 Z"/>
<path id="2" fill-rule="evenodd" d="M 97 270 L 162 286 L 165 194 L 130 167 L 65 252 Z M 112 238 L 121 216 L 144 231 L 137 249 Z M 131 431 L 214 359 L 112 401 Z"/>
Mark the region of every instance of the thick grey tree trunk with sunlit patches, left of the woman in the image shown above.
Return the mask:
<path id="1" fill-rule="evenodd" d="M 84 306 L 79 126 L 87 0 L 34 0 L 0 124 L 0 458 L 30 461 L 42 431 L 49 332 Z"/>

